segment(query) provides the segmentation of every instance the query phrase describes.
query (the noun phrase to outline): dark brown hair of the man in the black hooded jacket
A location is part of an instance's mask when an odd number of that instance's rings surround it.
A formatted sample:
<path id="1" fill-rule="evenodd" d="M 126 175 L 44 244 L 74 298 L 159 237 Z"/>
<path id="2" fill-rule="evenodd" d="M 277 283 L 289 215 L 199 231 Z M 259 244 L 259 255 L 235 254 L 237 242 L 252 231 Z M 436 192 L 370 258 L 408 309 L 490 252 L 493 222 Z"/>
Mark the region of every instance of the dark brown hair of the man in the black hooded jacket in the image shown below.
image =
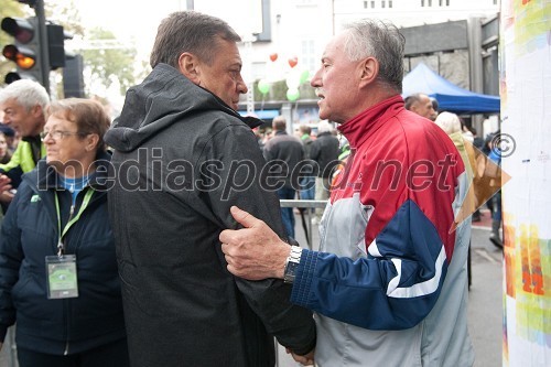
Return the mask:
<path id="1" fill-rule="evenodd" d="M 159 63 L 164 63 L 177 68 L 180 55 L 184 52 L 212 65 L 219 39 L 241 41 L 236 31 L 222 19 L 196 11 L 174 12 L 159 25 L 150 65 L 154 68 Z"/>

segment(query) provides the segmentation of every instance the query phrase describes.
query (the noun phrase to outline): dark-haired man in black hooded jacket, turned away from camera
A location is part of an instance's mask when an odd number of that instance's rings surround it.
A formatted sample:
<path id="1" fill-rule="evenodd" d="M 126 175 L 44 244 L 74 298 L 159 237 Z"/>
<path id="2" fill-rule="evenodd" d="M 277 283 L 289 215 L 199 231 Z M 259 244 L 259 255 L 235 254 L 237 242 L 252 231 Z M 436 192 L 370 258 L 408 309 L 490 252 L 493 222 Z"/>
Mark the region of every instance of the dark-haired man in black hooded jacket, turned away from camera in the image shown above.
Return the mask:
<path id="1" fill-rule="evenodd" d="M 312 312 L 290 303 L 291 288 L 231 276 L 218 240 L 239 226 L 233 205 L 287 238 L 278 196 L 260 175 L 266 161 L 251 128 L 261 121 L 237 112 L 247 93 L 239 41 L 218 18 L 170 14 L 152 72 L 128 90 L 106 134 L 133 367 L 273 367 L 273 336 L 304 361 L 315 346 Z"/>

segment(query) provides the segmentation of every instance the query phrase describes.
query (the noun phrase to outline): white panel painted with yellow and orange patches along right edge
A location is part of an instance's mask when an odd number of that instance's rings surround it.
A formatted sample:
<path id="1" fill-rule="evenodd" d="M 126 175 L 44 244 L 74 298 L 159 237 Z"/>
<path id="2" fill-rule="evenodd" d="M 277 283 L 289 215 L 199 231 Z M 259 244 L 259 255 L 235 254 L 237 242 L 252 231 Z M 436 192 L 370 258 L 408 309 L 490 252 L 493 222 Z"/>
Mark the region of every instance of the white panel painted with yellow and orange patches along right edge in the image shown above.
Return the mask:
<path id="1" fill-rule="evenodd" d="M 551 366 L 551 1 L 501 0 L 504 366 Z"/>

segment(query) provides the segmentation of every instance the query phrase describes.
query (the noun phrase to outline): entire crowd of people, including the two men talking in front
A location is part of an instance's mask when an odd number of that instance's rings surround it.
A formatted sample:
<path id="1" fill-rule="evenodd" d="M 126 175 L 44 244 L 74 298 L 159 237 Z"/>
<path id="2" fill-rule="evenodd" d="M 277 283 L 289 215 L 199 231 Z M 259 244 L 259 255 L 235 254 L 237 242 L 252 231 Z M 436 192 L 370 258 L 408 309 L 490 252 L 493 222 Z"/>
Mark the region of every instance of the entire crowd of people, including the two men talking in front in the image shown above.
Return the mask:
<path id="1" fill-rule="evenodd" d="M 279 116 L 266 141 L 237 112 L 238 42 L 170 14 L 112 123 L 0 90 L 0 341 L 17 323 L 21 367 L 268 367 L 273 337 L 304 365 L 472 366 L 473 152 L 457 116 L 402 99 L 399 30 L 345 25 L 311 80 L 317 132 Z M 280 208 L 296 197 L 327 201 L 317 251 Z"/>

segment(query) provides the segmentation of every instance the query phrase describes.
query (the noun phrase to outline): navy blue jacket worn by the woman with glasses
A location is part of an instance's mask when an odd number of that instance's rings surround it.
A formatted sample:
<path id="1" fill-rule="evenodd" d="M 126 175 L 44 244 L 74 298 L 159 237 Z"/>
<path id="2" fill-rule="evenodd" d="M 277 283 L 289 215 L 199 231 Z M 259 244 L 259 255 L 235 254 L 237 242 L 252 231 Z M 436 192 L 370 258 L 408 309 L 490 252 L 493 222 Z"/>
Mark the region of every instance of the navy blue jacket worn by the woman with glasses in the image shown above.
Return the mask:
<path id="1" fill-rule="evenodd" d="M 100 156 L 99 166 L 110 156 Z M 107 214 L 104 172 L 98 169 L 78 194 L 75 214 L 90 186 L 91 199 L 64 238 L 65 253 L 77 259 L 78 298 L 48 300 L 45 257 L 56 253 L 58 224 L 69 217 L 72 195 L 58 185 L 45 160 L 23 175 L 6 215 L 0 237 L 0 339 L 13 323 L 17 344 L 55 355 L 74 354 L 126 336 L 115 241 Z"/>

